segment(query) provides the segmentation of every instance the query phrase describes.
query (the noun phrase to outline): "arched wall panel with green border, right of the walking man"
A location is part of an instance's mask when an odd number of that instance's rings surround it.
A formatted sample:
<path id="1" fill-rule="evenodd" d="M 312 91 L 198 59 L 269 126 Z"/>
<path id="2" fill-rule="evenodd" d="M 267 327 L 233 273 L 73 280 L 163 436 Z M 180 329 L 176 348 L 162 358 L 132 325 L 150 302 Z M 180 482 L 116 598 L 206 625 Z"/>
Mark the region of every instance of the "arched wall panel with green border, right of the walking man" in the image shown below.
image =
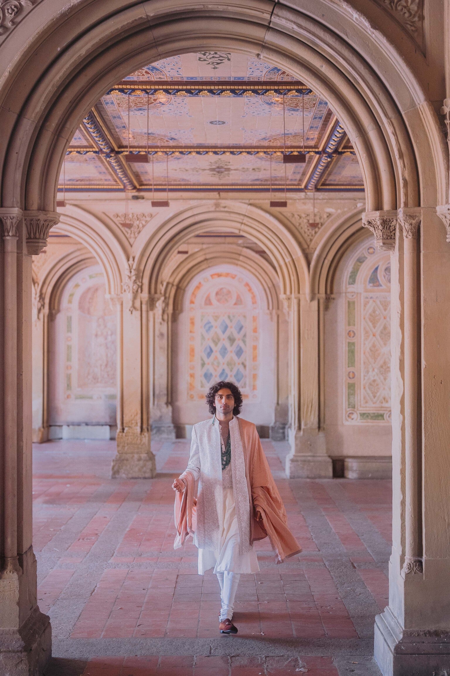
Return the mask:
<path id="1" fill-rule="evenodd" d="M 391 262 L 365 243 L 346 272 L 344 422 L 391 421 Z"/>

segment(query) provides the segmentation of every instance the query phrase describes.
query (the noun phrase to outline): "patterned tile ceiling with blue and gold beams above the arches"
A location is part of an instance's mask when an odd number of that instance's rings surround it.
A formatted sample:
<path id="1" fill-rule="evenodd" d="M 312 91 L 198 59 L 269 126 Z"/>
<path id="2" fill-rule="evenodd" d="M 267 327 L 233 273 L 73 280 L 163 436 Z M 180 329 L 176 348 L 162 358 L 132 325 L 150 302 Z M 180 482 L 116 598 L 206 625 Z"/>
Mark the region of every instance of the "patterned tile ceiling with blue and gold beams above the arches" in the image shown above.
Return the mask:
<path id="1" fill-rule="evenodd" d="M 283 162 L 301 153 L 304 164 Z M 364 189 L 327 101 L 275 66 L 219 52 L 163 59 L 118 82 L 74 135 L 63 187 L 159 197 L 167 189 Z"/>

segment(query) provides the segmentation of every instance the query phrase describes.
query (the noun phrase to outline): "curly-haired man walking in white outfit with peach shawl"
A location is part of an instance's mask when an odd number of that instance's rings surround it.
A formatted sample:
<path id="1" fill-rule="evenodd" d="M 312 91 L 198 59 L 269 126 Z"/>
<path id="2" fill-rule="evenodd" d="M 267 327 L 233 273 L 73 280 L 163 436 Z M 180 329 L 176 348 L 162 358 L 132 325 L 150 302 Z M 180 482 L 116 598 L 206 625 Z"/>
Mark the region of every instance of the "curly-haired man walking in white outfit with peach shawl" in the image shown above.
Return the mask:
<path id="1" fill-rule="evenodd" d="M 256 540 L 269 536 L 277 563 L 301 552 L 262 450 L 256 427 L 238 418 L 242 395 L 234 383 L 210 387 L 206 403 L 213 419 L 192 429 L 186 471 L 173 482 L 175 548 L 194 535 L 198 574 L 214 569 L 221 585 L 220 633 L 237 633 L 231 622 L 242 573 L 257 573 Z M 198 496 L 194 482 L 198 479 Z"/>

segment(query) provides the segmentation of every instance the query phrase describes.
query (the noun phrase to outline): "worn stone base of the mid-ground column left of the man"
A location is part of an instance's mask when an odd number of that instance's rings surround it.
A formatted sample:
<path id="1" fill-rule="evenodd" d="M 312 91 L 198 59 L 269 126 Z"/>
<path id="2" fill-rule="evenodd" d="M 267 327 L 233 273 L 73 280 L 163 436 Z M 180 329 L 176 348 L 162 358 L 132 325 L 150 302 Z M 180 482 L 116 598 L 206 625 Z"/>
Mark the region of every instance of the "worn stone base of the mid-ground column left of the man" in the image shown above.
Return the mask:
<path id="1" fill-rule="evenodd" d="M 117 454 L 111 465 L 111 477 L 153 479 L 157 473 L 150 450 L 150 432 L 125 429 L 117 432 Z"/>

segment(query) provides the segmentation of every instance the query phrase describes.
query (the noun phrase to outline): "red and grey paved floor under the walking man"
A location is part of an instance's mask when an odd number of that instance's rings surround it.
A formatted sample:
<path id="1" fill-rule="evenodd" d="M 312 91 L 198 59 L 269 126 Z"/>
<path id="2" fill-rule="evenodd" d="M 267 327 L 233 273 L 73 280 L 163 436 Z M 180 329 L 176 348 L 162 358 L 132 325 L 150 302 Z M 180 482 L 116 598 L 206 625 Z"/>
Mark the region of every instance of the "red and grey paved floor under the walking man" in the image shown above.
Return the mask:
<path id="1" fill-rule="evenodd" d="M 303 552 L 276 565 L 258 543 L 260 573 L 237 590 L 237 637 L 218 634 L 219 583 L 197 574 L 192 540 L 173 550 L 171 482 L 188 442 L 154 446 L 151 481 L 109 479 L 112 442 L 34 448 L 38 599 L 57 658 L 86 657 L 84 676 L 339 676 L 364 660 L 358 674 L 377 673 L 370 642 L 387 604 L 390 482 L 288 481 L 283 444 L 263 443 Z"/>

